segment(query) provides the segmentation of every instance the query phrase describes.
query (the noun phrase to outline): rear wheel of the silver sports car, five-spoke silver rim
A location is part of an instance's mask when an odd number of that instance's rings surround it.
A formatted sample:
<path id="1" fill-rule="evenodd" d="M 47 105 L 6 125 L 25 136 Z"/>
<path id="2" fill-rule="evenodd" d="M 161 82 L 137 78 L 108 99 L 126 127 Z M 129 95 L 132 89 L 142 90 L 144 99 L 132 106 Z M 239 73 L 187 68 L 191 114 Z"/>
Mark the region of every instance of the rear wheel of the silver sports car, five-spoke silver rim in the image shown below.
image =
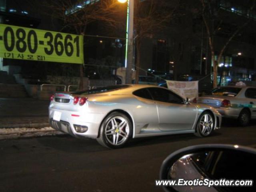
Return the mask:
<path id="1" fill-rule="evenodd" d="M 131 135 L 130 119 L 120 112 L 113 112 L 103 120 L 97 141 L 108 148 L 121 148 Z"/>

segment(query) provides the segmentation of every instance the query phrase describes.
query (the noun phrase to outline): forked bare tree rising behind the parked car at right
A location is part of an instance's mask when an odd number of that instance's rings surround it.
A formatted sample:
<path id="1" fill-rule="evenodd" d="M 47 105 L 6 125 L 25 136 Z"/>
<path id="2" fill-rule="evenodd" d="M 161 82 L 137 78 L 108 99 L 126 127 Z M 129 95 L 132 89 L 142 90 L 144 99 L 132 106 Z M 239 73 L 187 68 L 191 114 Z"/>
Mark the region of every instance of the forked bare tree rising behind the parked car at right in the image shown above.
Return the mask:
<path id="1" fill-rule="evenodd" d="M 216 60 L 214 58 L 214 53 L 216 51 L 215 44 L 214 44 L 214 36 L 221 30 L 221 24 L 224 20 L 223 15 L 220 13 L 220 7 L 218 6 L 218 2 L 216 0 L 200 0 L 202 3 L 202 18 L 204 21 L 204 25 L 206 27 L 207 32 L 207 38 L 210 46 L 210 52 L 211 52 L 211 60 L 213 63 L 213 87 L 216 88 L 217 85 L 217 76 L 218 76 L 218 64 L 220 62 L 220 59 L 222 58 L 222 55 L 224 51 L 226 50 L 227 46 L 230 44 L 230 42 L 238 35 L 238 33 L 250 23 L 252 20 L 251 18 L 247 18 L 245 22 L 238 24 L 230 34 L 228 34 L 228 38 L 226 39 L 226 42 L 223 42 L 223 45 L 220 49 L 220 52 L 218 53 L 218 59 Z M 252 10 L 254 10 L 255 7 L 255 0 L 253 0 L 253 3 L 251 3 L 248 6 L 247 15 L 250 17 L 250 13 Z"/>

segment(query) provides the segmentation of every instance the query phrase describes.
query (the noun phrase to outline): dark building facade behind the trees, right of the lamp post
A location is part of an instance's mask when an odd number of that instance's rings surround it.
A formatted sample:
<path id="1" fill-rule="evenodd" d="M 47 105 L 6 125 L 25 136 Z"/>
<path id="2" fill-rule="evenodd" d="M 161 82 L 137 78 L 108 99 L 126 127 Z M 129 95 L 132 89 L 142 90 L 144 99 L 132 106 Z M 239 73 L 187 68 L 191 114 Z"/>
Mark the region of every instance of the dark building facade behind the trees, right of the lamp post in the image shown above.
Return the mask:
<path id="1" fill-rule="evenodd" d="M 197 7 L 196 1 L 185 1 Z M 218 64 L 218 82 L 226 85 L 235 81 L 255 80 L 256 73 L 256 12 L 253 2 L 237 0 L 214 1 L 218 17 L 215 18 L 215 59 L 232 33 L 244 22 L 248 25 L 238 32 L 224 51 Z M 191 7 L 193 7 L 191 5 Z M 208 36 L 200 12 L 188 12 L 174 18 L 165 34 L 144 40 L 142 66 L 161 72 L 207 76 L 212 72 Z M 158 38 L 157 38 L 158 36 Z M 148 54 L 148 52 L 152 54 Z M 143 72 L 142 72 L 143 74 Z"/>

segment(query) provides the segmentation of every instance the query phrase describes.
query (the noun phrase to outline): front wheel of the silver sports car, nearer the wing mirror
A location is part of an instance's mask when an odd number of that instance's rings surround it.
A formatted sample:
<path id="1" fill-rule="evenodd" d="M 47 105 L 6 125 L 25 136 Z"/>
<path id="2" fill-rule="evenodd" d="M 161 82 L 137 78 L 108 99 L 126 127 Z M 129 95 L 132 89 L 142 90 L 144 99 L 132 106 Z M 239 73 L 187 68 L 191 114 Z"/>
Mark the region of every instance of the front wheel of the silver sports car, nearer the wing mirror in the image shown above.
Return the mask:
<path id="1" fill-rule="evenodd" d="M 214 129 L 213 115 L 208 111 L 203 112 L 198 118 L 195 135 L 198 137 L 206 137 L 212 133 L 213 129 Z"/>

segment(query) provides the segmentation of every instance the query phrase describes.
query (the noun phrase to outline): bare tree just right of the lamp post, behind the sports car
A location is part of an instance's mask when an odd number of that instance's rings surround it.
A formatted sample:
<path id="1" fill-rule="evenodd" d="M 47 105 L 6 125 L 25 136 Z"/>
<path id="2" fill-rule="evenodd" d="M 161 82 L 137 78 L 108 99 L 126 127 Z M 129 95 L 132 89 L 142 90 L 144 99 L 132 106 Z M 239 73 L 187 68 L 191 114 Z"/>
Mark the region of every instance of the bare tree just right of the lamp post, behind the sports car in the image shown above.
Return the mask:
<path id="1" fill-rule="evenodd" d="M 156 34 L 170 24 L 179 1 L 135 0 L 134 29 L 136 43 L 136 83 L 140 73 L 141 42 L 143 38 Z M 175 6 L 173 6 L 175 5 Z"/>

